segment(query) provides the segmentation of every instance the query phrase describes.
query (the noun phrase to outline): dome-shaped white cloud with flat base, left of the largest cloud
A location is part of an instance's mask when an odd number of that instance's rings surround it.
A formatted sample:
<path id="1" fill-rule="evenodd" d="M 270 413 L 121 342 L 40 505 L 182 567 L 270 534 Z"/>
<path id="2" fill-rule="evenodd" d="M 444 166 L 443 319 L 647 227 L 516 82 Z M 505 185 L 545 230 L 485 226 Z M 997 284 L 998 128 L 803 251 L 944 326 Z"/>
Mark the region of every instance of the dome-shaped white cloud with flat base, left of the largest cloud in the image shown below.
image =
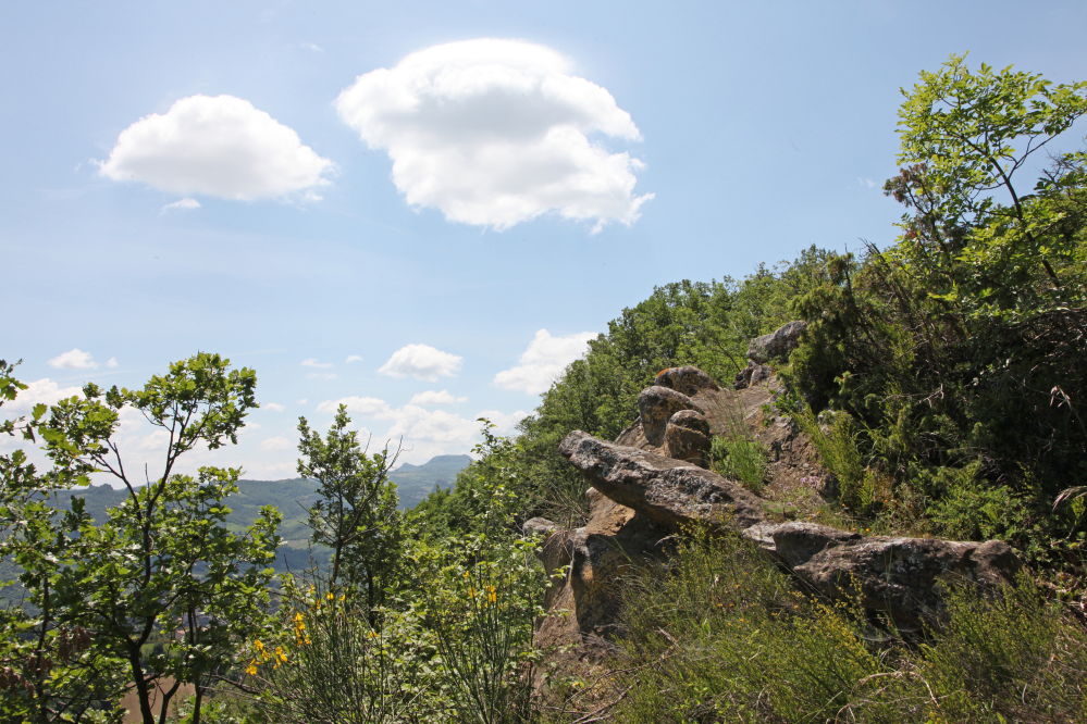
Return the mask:
<path id="1" fill-rule="evenodd" d="M 314 196 L 332 166 L 249 101 L 190 96 L 121 132 L 99 173 L 171 194 L 248 200 L 304 190 Z M 187 200 L 174 208 L 195 208 Z"/>

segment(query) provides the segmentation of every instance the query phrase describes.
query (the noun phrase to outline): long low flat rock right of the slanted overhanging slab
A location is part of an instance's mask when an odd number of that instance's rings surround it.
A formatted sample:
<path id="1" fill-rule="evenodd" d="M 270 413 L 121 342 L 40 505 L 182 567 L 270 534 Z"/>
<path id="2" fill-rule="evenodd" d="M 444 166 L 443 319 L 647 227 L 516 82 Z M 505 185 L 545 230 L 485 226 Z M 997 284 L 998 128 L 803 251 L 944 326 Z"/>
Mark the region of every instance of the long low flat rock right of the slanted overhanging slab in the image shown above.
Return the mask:
<path id="1" fill-rule="evenodd" d="M 1000 540 L 861 536 L 813 523 L 763 523 L 743 535 L 827 598 L 859 596 L 864 608 L 888 614 L 905 631 L 940 621 L 939 584 L 966 581 L 995 589 L 1013 583 L 1022 567 Z"/>

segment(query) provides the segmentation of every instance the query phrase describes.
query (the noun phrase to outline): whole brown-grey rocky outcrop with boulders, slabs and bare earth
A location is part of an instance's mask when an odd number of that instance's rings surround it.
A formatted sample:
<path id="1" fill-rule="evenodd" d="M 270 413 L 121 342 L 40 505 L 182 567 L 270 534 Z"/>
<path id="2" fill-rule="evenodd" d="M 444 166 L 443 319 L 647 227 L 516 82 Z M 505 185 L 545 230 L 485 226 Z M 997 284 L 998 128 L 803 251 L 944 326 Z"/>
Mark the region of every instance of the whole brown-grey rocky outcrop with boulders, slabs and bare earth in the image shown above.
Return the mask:
<path id="1" fill-rule="evenodd" d="M 777 350 L 766 352 L 769 357 L 787 353 L 802 325 L 786 325 L 777 341 L 758 349 Z M 756 357 L 762 354 L 756 350 Z M 592 507 L 589 522 L 576 529 L 544 519 L 524 525 L 526 532 L 547 536 L 541 559 L 549 575 L 563 574 L 553 578 L 556 585 L 545 603 L 566 614 L 546 616 L 536 639 L 549 651 L 548 665 L 555 671 L 569 671 L 567 664 L 584 671 L 610 656 L 614 647 L 607 639 L 625 576 L 667 559 L 669 541 L 692 523 L 742 532 L 814 592 L 860 600 L 903 631 L 940 621 L 941 584 L 968 581 L 995 590 L 1014 578 L 1021 563 L 1003 542 L 862 536 L 811 522 L 782 523 L 787 511 L 781 498 L 759 498 L 705 470 L 712 433 L 734 434 L 742 424 L 768 453 L 773 479 L 764 495 L 785 485 L 788 500 L 798 490 L 814 497 L 831 479 L 803 433 L 775 411 L 778 383 L 763 378 L 771 374 L 769 367 L 753 361 L 749 370 L 751 384 L 733 392 L 721 390 L 696 367 L 670 367 L 639 397 L 639 420 L 615 442 L 583 432 L 563 440 L 559 452 L 591 486 L 585 494 Z M 818 510 L 806 514 L 815 516 Z M 545 688 L 542 679 L 536 682 L 538 691 Z"/>

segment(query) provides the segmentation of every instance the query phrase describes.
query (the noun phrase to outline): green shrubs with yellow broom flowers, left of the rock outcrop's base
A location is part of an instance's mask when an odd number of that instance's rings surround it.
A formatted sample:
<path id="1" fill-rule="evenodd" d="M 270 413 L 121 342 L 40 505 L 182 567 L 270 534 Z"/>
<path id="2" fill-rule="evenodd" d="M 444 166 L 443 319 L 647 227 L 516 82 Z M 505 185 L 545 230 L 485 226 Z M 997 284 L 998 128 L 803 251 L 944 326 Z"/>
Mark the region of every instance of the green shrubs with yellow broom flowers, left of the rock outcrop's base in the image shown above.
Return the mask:
<path id="1" fill-rule="evenodd" d="M 276 623 L 243 650 L 255 717 L 504 724 L 529 715 L 544 574 L 538 541 L 514 526 L 515 450 L 484 427 L 471 524 L 392 551 L 399 558 L 382 604 L 318 570 L 285 583 Z M 344 558 L 345 581 L 360 561 Z"/>

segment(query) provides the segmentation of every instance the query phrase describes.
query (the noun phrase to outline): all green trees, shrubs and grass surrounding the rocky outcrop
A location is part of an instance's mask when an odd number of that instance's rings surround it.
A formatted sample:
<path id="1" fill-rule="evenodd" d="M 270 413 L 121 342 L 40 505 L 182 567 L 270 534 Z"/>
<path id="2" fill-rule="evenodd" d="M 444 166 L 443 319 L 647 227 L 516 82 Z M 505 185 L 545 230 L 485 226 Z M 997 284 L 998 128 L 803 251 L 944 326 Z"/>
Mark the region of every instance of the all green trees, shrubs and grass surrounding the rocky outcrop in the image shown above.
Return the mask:
<path id="1" fill-rule="evenodd" d="M 972 73 L 962 58 L 922 74 L 886 186 L 906 207 L 893 244 L 655 289 L 516 439 L 484 427 L 454 488 L 407 513 L 394 455 L 365 453 L 344 410 L 324 436 L 301 420 L 299 473 L 316 490 L 305 528 L 329 562 L 274 586 L 282 512 L 252 510 L 238 470 L 175 472 L 197 445 L 235 441 L 256 407 L 252 371 L 201 353 L 143 389 L 88 385 L 4 423 L 42 442 L 51 467 L 0 457 L 0 557 L 26 595 L 0 612 L 0 721 L 115 722 L 134 688 L 152 724 L 155 687 L 169 698 L 182 684 L 196 687 L 176 710 L 193 724 L 1083 721 L 1087 634 L 1067 603 L 1083 596 L 1087 523 L 1087 154 L 1039 164 L 1036 152 L 1087 112 L 1085 88 Z M 727 383 L 751 338 L 793 319 L 810 326 L 774 361 L 775 405 L 836 476 L 836 514 L 1002 538 L 1035 577 L 993 600 L 958 589 L 944 627 L 906 639 L 796 588 L 740 539 L 690 532 L 670 566 L 627 586 L 616 667 L 561 684 L 568 708 L 534 709 L 545 579 L 519 523 L 586 514 L 559 440 L 614 438 L 664 367 Z M 0 363 L 0 403 L 21 388 Z M 171 433 L 144 486 L 112 444 L 126 405 Z M 726 434 L 715 455 L 756 487 L 749 442 Z M 124 490 L 91 516 L 72 491 L 95 471 Z M 228 521 L 234 501 L 245 525 Z M 601 706 L 579 704 L 588 696 Z"/>

